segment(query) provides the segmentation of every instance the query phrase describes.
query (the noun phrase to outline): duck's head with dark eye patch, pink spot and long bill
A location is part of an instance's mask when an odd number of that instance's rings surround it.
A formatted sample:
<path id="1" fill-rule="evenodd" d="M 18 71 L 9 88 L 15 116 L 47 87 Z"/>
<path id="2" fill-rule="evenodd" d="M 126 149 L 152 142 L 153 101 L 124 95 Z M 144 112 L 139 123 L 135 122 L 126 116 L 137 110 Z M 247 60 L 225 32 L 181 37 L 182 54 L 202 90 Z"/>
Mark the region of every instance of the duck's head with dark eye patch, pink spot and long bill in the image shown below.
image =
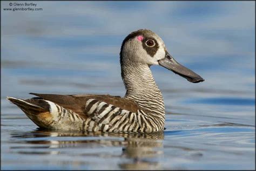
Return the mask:
<path id="1" fill-rule="evenodd" d="M 122 44 L 120 64 L 124 66 L 160 65 L 192 83 L 204 81 L 198 74 L 180 65 L 167 51 L 164 41 L 151 30 L 131 32 Z"/>

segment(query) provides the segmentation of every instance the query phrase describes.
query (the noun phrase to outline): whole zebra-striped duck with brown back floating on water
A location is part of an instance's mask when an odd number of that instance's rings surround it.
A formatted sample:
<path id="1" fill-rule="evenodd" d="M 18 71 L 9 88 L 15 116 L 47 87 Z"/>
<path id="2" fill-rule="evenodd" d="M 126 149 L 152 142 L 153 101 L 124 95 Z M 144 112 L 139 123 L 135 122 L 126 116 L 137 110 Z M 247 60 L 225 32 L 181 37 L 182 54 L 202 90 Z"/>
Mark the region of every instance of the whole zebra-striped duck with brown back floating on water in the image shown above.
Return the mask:
<path id="1" fill-rule="evenodd" d="M 124 97 L 109 94 L 40 94 L 20 99 L 7 97 L 39 128 L 89 132 L 163 132 L 163 94 L 150 67 L 159 65 L 191 83 L 204 79 L 179 64 L 153 31 L 140 29 L 123 40 L 120 49 Z"/>

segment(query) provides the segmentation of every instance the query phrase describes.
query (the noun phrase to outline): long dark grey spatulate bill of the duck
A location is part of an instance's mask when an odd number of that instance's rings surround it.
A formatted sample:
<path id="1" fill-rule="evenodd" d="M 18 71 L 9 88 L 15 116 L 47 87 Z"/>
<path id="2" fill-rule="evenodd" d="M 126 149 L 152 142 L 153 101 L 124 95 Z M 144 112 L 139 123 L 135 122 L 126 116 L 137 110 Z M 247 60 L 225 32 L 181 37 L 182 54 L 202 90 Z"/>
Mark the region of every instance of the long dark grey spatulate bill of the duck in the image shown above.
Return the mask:
<path id="1" fill-rule="evenodd" d="M 203 82 L 204 79 L 201 78 L 198 74 L 194 73 L 190 69 L 187 69 L 185 66 L 180 65 L 173 57 L 166 52 L 165 58 L 158 61 L 159 65 L 165 67 L 172 72 L 179 74 L 181 77 L 186 78 L 188 81 L 192 83 Z"/>

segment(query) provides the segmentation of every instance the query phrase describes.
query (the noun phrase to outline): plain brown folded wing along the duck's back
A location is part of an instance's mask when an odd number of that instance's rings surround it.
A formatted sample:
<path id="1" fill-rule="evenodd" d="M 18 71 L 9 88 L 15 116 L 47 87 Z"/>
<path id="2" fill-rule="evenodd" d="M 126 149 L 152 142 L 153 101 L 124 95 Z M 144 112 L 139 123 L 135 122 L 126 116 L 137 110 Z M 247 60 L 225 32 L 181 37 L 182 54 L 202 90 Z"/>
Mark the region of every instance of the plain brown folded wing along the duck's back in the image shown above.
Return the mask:
<path id="1" fill-rule="evenodd" d="M 132 100 L 124 99 L 119 96 L 112 95 L 95 95 L 95 94 L 76 94 L 76 95 L 60 95 L 60 94 L 38 94 L 30 93 L 41 97 L 45 100 L 55 102 L 56 104 L 68 108 L 77 114 L 85 114 L 85 104 L 89 99 L 97 99 L 107 104 L 114 105 L 130 112 L 137 112 L 141 108 Z"/>

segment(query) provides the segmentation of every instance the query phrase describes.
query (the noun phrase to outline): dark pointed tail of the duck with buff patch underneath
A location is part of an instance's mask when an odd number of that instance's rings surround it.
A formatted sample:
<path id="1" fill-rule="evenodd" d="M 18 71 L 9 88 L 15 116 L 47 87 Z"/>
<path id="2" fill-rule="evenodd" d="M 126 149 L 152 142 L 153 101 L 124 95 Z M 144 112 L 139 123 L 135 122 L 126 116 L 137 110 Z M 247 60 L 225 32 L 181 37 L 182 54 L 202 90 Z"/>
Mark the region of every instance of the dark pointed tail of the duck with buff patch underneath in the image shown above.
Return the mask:
<path id="1" fill-rule="evenodd" d="M 40 98 L 18 99 L 7 97 L 7 100 L 17 105 L 39 127 L 46 128 L 52 120 L 50 105 Z"/>

